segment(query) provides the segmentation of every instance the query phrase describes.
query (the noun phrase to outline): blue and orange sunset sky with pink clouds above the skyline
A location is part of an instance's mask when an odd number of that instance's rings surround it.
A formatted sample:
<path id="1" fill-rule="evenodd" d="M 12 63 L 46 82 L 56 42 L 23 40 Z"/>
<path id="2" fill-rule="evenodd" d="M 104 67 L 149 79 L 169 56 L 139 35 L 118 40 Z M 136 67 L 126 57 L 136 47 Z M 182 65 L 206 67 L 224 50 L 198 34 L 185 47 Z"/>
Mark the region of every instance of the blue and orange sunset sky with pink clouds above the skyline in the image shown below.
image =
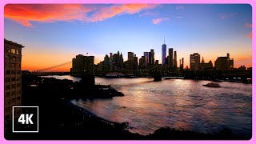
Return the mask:
<path id="1" fill-rule="evenodd" d="M 141 58 L 154 49 L 161 63 L 164 38 L 185 66 L 193 53 L 205 62 L 230 53 L 235 67 L 252 66 L 252 9 L 246 4 L 6 5 L 4 24 L 4 37 L 25 46 L 22 70 L 70 62 L 77 54 L 102 61 L 118 50 L 126 61 L 128 51 Z"/>

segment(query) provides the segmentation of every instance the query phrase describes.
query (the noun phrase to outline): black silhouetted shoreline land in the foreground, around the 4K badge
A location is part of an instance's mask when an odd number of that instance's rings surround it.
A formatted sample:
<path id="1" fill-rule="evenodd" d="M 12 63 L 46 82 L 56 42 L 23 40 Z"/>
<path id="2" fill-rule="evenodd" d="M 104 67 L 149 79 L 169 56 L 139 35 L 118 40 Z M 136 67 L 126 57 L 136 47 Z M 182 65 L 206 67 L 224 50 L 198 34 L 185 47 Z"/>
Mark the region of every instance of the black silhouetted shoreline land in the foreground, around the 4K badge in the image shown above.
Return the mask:
<path id="1" fill-rule="evenodd" d="M 90 95 L 92 94 L 90 90 L 97 86 L 84 87 L 83 82 L 35 76 L 26 76 L 22 78 L 22 82 L 23 106 L 39 106 L 39 132 L 11 133 L 11 126 L 7 126 L 5 138 L 8 140 L 248 140 L 251 138 L 251 135 L 236 135 L 226 129 L 218 134 L 202 134 L 174 130 L 170 127 L 155 130 L 154 134 L 132 134 L 126 130 L 129 128 L 129 123 L 107 121 L 70 102 L 72 99 L 94 98 Z"/>

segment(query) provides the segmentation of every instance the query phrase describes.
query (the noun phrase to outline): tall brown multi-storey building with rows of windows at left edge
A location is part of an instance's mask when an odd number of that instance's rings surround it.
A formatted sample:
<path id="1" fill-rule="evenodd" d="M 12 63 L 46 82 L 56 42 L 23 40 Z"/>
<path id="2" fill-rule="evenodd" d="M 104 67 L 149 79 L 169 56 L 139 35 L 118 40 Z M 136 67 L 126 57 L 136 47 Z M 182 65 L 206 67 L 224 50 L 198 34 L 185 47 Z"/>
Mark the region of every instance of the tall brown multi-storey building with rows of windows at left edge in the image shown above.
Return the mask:
<path id="1" fill-rule="evenodd" d="M 4 39 L 4 118 L 5 125 L 11 122 L 12 107 L 22 106 L 22 46 Z M 20 109 L 14 110 L 18 116 Z"/>

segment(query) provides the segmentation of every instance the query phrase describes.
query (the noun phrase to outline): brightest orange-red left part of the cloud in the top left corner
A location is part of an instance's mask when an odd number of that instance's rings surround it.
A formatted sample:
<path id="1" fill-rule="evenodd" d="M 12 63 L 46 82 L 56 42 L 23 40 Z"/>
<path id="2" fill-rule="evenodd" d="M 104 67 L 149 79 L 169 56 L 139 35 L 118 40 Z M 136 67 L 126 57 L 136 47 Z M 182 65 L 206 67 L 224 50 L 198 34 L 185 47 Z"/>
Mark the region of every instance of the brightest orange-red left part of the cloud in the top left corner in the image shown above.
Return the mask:
<path id="1" fill-rule="evenodd" d="M 9 4 L 5 6 L 5 18 L 10 18 L 23 26 L 31 22 L 74 21 L 86 18 L 85 13 L 92 9 L 77 4 Z"/>

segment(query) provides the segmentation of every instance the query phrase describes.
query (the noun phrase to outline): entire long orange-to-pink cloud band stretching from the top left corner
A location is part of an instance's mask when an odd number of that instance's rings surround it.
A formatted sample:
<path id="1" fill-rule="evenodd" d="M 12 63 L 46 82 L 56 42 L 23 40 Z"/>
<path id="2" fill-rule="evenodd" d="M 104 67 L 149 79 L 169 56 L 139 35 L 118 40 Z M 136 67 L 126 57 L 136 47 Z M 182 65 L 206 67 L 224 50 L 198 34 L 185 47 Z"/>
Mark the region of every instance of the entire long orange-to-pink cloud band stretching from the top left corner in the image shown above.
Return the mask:
<path id="1" fill-rule="evenodd" d="M 23 26 L 32 26 L 31 22 L 100 22 L 119 14 L 135 14 L 156 6 L 158 5 L 123 4 L 100 6 L 96 9 L 81 4 L 9 4 L 5 6 L 4 15 Z"/>

